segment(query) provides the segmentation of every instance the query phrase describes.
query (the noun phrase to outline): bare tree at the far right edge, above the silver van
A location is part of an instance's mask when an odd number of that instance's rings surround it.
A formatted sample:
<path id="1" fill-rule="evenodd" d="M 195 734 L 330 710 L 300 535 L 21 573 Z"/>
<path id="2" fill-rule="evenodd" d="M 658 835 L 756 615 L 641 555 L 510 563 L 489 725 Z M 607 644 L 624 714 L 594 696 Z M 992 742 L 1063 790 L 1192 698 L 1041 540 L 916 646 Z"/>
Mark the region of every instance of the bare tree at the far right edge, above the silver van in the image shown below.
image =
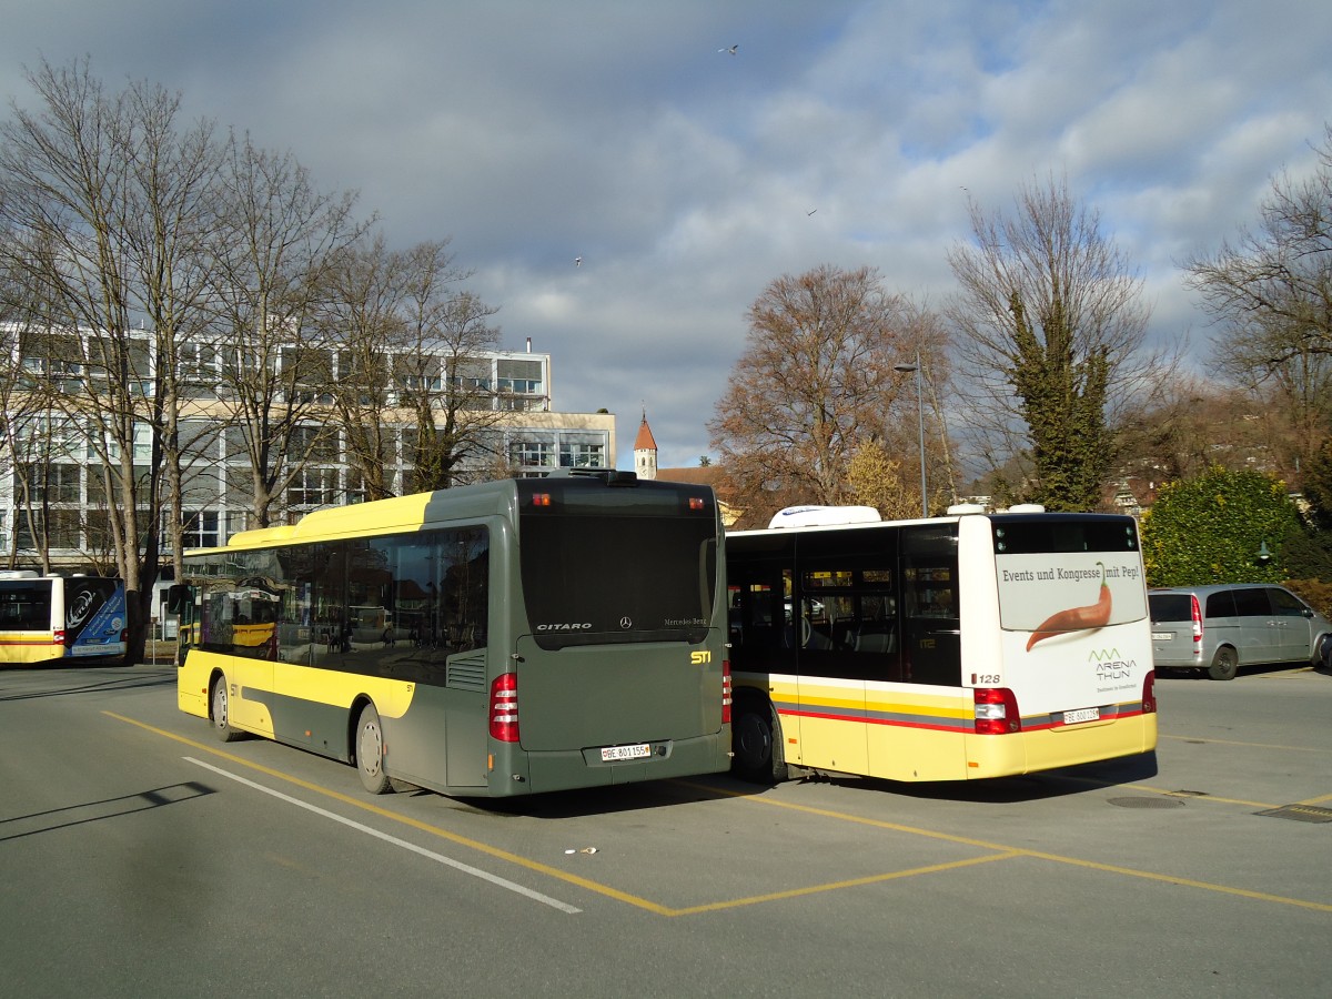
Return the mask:
<path id="1" fill-rule="evenodd" d="M 1213 369 L 1279 404 L 1295 432 L 1288 468 L 1317 454 L 1332 429 L 1332 125 L 1317 163 L 1305 180 L 1272 181 L 1256 229 L 1185 264 L 1220 326 Z"/>

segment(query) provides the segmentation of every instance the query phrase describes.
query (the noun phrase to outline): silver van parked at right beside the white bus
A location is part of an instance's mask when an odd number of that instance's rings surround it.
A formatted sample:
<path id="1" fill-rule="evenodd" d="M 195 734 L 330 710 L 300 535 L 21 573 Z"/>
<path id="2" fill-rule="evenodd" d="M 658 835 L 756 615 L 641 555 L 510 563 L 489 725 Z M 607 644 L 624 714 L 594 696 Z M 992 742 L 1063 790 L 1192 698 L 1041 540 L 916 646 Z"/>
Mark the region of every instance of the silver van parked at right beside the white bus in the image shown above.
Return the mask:
<path id="1" fill-rule="evenodd" d="M 1317 665 L 1332 621 L 1281 586 L 1225 583 L 1150 590 L 1156 669 L 1207 670 L 1233 679 L 1239 666 Z"/>

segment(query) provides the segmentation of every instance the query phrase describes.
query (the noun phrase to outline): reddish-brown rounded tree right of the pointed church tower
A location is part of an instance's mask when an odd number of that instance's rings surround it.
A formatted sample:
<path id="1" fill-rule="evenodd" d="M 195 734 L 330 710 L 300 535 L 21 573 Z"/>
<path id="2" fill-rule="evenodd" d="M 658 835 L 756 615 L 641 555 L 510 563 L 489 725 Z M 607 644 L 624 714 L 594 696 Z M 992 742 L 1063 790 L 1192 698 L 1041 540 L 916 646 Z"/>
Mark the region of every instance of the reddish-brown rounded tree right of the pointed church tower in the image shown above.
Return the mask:
<path id="1" fill-rule="evenodd" d="M 746 350 L 707 425 L 746 522 L 854 500 L 858 453 L 880 468 L 918 453 L 916 400 L 895 366 L 918 350 L 926 369 L 943 362 L 911 318 L 868 268 L 783 276 L 750 306 Z"/>

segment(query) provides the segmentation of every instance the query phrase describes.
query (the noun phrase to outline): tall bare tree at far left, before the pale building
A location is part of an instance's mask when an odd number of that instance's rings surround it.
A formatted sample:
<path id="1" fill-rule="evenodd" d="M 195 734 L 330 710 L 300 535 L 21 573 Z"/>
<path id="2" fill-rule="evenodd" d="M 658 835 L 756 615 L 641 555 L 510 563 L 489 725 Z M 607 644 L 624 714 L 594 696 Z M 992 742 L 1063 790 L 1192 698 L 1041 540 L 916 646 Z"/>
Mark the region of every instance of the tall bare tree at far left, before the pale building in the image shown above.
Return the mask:
<path id="1" fill-rule="evenodd" d="M 172 366 L 157 358 L 194 332 L 212 129 L 180 128 L 180 99 L 149 84 L 104 93 L 87 60 L 44 63 L 28 83 L 41 109 L 11 105 L 0 127 L 0 222 L 16 240 L 21 282 L 41 289 L 29 296 L 35 325 L 79 332 L 77 370 L 49 398 L 85 428 L 105 472 L 129 655 L 140 657 L 174 446 Z"/>

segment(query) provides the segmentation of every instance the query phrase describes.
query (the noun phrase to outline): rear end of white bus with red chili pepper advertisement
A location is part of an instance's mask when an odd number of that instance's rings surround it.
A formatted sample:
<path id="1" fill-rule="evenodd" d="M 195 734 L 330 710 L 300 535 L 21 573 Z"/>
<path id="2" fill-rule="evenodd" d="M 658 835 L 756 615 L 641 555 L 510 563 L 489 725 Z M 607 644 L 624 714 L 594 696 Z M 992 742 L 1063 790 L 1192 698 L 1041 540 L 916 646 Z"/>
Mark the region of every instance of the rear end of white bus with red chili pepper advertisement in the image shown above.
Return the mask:
<path id="1" fill-rule="evenodd" d="M 978 561 L 992 551 L 996 589 L 994 597 L 975 590 L 963 618 L 983 621 L 992 607 L 999 615 L 994 675 L 986 673 L 994 649 L 970 641 L 990 629 L 962 633 L 976 719 L 968 767 L 1016 774 L 1155 749 L 1151 625 L 1134 521 L 1010 513 L 964 517 L 959 535 Z"/>

